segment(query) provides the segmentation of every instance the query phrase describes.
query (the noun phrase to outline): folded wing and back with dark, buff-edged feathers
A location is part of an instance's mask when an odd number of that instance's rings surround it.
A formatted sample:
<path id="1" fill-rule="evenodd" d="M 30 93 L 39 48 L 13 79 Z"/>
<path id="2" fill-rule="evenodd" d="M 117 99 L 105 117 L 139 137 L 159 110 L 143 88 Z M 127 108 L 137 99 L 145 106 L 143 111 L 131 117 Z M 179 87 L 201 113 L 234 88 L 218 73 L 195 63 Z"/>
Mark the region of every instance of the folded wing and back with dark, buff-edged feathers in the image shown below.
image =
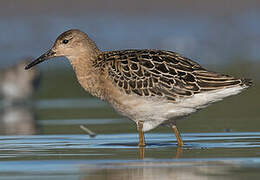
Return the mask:
<path id="1" fill-rule="evenodd" d="M 95 66 L 106 69 L 126 94 L 162 96 L 171 101 L 204 91 L 244 85 L 245 79 L 207 71 L 171 51 L 122 50 L 101 53 Z"/>

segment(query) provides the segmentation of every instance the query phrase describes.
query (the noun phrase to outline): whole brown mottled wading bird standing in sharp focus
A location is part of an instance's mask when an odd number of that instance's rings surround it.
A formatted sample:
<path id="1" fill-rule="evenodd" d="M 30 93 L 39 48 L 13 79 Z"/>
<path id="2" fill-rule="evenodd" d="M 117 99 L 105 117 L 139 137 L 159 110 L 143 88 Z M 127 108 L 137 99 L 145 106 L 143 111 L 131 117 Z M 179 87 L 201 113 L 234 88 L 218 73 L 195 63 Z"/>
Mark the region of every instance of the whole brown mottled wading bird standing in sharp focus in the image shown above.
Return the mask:
<path id="1" fill-rule="evenodd" d="M 178 145 L 183 146 L 176 119 L 251 85 L 249 79 L 208 71 L 175 52 L 102 52 L 87 34 L 75 29 L 61 34 L 49 51 L 25 69 L 59 56 L 69 59 L 86 91 L 136 122 L 139 146 L 145 146 L 144 131 L 165 123 L 173 127 Z"/>

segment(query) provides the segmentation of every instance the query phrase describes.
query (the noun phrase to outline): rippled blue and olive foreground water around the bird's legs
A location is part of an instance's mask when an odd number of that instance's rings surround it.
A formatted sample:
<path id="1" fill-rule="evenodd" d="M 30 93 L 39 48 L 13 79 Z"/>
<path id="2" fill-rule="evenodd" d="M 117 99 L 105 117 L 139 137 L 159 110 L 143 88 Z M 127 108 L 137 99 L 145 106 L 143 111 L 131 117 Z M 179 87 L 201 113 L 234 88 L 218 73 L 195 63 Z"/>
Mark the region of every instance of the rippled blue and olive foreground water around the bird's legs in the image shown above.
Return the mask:
<path id="1" fill-rule="evenodd" d="M 0 179 L 243 179 L 260 169 L 260 133 L 183 134 L 181 149 L 173 134 L 148 133 L 144 150 L 137 138 L 1 136 Z"/>

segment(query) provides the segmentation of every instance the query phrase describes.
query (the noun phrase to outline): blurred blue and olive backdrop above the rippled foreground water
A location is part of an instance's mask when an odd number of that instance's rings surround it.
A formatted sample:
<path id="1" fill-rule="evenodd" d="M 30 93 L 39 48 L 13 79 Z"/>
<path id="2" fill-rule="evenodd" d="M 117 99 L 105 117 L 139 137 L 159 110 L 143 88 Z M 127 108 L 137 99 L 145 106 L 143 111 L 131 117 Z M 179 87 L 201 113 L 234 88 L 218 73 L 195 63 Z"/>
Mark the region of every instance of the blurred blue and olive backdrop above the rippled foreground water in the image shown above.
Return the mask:
<path id="1" fill-rule="evenodd" d="M 254 87 L 242 94 L 180 121 L 182 132 L 259 131 L 259 9 L 257 0 L 4 0 L 0 7 L 0 67 L 2 72 L 12 71 L 27 57 L 40 56 L 60 33 L 71 28 L 88 33 L 102 50 L 176 51 L 210 70 L 254 80 Z M 34 75 L 39 82 L 37 88 L 31 80 L 21 85 L 8 80 L 17 85 L 13 89 L 30 86 L 29 91 L 33 92 L 19 92 L 31 99 L 24 116 L 33 112 L 31 118 L 37 124 L 28 134 L 84 133 L 79 128 L 81 124 L 98 134 L 136 132 L 134 123 L 80 87 L 65 58 L 37 68 L 41 72 Z M 15 76 L 25 77 L 22 73 Z M 1 117 L 6 122 L 10 103 L 5 97 L 2 93 Z M 22 120 L 18 122 L 24 124 Z M 170 131 L 166 127 L 154 130 Z"/>

